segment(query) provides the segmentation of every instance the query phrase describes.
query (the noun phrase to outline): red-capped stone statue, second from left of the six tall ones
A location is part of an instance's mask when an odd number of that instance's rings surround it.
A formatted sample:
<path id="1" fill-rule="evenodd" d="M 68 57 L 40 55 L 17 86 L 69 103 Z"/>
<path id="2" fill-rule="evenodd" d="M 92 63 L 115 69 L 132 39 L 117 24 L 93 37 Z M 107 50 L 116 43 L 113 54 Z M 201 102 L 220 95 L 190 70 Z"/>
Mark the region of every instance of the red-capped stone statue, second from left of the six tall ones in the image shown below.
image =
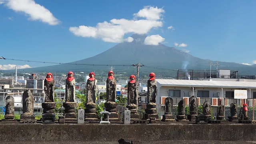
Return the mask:
<path id="1" fill-rule="evenodd" d="M 76 80 L 74 79 L 74 73 L 68 72 L 68 77 L 66 79 L 66 102 L 76 102 Z"/>

